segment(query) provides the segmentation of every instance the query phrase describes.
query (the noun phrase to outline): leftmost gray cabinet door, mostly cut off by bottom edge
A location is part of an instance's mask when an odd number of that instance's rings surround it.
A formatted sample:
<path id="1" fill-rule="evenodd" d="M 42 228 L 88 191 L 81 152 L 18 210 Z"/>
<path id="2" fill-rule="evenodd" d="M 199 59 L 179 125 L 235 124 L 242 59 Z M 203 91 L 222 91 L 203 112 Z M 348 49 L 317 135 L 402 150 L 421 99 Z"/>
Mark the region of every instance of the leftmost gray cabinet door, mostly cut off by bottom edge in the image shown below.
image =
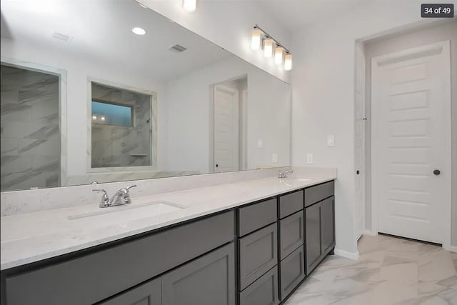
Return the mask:
<path id="1" fill-rule="evenodd" d="M 161 289 L 161 279 L 153 279 L 108 301 L 103 301 L 100 305 L 161 305 Z"/>

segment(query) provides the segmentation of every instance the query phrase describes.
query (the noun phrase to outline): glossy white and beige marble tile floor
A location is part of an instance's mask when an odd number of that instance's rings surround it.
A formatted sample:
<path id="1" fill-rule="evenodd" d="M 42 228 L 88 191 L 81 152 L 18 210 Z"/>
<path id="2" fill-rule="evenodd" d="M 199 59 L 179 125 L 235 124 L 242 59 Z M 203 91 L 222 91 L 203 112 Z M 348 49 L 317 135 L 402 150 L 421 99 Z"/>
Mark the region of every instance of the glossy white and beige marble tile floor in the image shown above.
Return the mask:
<path id="1" fill-rule="evenodd" d="M 457 305 L 457 253 L 363 236 L 360 259 L 327 256 L 285 305 Z"/>

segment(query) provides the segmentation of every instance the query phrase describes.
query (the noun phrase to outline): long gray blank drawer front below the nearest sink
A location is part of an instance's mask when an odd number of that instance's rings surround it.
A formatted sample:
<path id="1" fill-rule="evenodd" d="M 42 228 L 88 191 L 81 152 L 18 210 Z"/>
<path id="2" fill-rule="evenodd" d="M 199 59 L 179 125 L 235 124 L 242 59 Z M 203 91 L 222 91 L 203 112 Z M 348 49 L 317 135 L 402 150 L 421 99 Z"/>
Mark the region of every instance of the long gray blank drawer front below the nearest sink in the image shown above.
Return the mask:
<path id="1" fill-rule="evenodd" d="M 96 303 L 232 241 L 234 223 L 233 211 L 227 211 L 93 254 L 8 276 L 7 304 Z"/>

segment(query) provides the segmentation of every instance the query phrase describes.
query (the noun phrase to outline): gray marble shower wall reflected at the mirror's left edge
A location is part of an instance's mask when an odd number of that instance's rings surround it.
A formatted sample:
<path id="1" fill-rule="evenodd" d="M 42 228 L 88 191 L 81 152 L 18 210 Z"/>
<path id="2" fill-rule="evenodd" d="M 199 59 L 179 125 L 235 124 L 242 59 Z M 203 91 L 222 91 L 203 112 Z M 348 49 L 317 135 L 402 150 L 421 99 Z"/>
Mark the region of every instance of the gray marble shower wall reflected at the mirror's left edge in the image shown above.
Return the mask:
<path id="1" fill-rule="evenodd" d="M 1 191 L 60 184 L 59 77 L 1 65 Z"/>

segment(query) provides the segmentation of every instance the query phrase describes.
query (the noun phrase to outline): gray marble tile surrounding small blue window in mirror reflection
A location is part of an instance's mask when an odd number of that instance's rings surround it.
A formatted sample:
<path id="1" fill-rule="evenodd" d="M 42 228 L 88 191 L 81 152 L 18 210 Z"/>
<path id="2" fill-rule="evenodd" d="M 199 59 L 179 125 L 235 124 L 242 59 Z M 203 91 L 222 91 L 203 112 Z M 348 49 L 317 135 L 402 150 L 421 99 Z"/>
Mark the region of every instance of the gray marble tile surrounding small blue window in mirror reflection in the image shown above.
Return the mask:
<path id="1" fill-rule="evenodd" d="M 151 166 L 151 96 L 92 83 L 92 100 L 134 107 L 134 126 L 92 124 L 92 168 Z"/>

